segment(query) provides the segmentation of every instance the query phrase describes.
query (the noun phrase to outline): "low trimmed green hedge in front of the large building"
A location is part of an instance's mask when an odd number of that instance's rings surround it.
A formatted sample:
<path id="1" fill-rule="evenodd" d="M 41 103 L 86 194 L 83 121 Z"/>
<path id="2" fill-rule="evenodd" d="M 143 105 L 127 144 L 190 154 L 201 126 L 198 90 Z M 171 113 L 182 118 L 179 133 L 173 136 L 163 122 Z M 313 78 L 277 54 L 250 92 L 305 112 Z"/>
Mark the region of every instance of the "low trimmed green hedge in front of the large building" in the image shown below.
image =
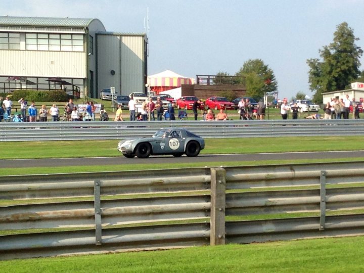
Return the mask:
<path id="1" fill-rule="evenodd" d="M 68 95 L 65 90 L 14 90 L 11 94 L 0 93 L 1 97 L 12 95 L 13 101 L 18 101 L 21 98 L 31 102 L 65 102 L 68 100 Z"/>

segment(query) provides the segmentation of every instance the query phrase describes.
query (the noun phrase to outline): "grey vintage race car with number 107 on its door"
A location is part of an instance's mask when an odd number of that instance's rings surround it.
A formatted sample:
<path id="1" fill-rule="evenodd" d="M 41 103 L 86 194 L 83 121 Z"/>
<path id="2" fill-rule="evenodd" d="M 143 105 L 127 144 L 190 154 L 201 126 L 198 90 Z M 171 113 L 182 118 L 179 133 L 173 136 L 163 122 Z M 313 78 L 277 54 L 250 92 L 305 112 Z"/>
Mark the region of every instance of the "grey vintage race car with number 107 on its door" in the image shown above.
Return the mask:
<path id="1" fill-rule="evenodd" d="M 198 156 L 205 148 L 205 141 L 198 135 L 184 128 L 162 128 L 152 137 L 122 140 L 118 150 L 123 156 L 133 158 L 147 158 L 150 155 L 173 155 L 180 157 Z"/>

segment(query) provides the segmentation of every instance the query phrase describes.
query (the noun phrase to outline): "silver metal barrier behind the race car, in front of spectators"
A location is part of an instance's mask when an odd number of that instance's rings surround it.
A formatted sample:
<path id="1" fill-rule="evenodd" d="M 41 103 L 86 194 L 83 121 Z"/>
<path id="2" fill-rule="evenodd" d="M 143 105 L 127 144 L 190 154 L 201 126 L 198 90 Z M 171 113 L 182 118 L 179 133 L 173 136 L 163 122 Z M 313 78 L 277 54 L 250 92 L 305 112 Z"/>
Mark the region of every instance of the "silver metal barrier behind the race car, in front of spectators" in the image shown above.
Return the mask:
<path id="1" fill-rule="evenodd" d="M 363 119 L 123 121 L 123 122 L 0 122 L 0 142 L 116 140 L 151 136 L 162 127 L 185 127 L 203 138 L 362 135 Z"/>

